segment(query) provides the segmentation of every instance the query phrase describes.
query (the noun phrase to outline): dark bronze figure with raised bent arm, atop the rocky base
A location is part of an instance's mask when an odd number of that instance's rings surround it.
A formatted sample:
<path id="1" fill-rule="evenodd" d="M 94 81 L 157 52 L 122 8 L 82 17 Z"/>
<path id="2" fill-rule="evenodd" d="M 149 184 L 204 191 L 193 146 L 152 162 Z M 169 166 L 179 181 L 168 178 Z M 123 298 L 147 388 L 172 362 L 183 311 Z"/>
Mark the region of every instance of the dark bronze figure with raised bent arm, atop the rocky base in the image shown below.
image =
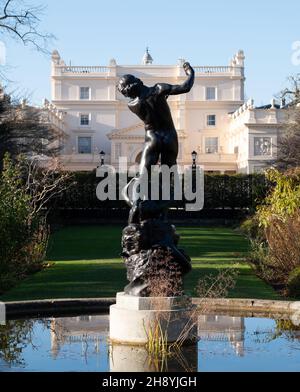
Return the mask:
<path id="1" fill-rule="evenodd" d="M 139 177 L 133 181 L 142 181 L 145 174 L 150 178 L 151 166 L 157 165 L 159 161 L 161 165 L 170 168 L 177 163 L 178 137 L 167 99 L 169 95 L 185 94 L 192 89 L 195 72 L 189 63 L 184 63 L 183 68 L 188 78 L 181 85 L 157 83 L 153 87 L 147 87 L 133 75 L 124 75 L 119 81 L 118 90 L 131 99 L 128 107 L 144 122 L 146 131 Z M 143 201 L 128 195 L 129 186 L 130 184 L 123 192 L 131 207 L 129 223 L 138 223 L 144 213 L 149 218 L 151 214 L 162 212 L 166 203 L 149 202 L 144 204 L 144 210 L 153 210 L 152 213 L 143 211 Z"/>

